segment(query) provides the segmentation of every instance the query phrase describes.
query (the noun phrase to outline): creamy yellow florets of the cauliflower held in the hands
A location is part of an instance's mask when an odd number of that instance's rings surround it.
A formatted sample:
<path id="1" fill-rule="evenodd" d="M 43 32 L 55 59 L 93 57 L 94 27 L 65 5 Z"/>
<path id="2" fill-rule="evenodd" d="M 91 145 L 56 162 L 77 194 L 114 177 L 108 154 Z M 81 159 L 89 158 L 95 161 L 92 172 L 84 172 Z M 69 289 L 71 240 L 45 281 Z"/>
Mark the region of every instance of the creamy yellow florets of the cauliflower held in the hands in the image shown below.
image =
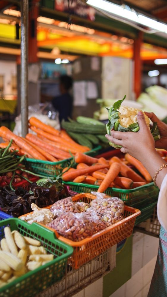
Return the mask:
<path id="1" fill-rule="evenodd" d="M 131 124 L 137 122 L 137 114 L 141 109 L 128 107 L 128 106 L 121 106 L 118 110 L 119 112 L 119 123 L 122 127 L 128 128 Z M 149 127 L 149 118 L 144 114 L 146 124 Z"/>

